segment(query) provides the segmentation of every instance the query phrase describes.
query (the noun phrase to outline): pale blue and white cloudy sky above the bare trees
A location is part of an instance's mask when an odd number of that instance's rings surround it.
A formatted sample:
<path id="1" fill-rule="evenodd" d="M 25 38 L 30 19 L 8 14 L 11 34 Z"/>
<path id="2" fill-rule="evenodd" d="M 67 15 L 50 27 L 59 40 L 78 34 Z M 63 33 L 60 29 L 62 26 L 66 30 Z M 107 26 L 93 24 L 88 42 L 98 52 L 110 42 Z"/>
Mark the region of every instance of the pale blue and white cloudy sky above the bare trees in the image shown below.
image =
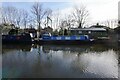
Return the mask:
<path id="1" fill-rule="evenodd" d="M 24 8 L 29 10 L 33 3 L 24 2 L 34 2 L 38 0 L 1 0 L 4 5 L 12 5 L 19 8 Z M 12 3 L 12 2 L 22 2 L 22 3 Z M 85 5 L 90 13 L 91 22 L 101 22 L 111 19 L 118 18 L 118 2 L 119 0 L 40 0 L 44 2 L 44 7 L 49 7 L 53 10 L 60 9 L 64 14 L 69 13 L 70 9 L 74 5 Z"/>

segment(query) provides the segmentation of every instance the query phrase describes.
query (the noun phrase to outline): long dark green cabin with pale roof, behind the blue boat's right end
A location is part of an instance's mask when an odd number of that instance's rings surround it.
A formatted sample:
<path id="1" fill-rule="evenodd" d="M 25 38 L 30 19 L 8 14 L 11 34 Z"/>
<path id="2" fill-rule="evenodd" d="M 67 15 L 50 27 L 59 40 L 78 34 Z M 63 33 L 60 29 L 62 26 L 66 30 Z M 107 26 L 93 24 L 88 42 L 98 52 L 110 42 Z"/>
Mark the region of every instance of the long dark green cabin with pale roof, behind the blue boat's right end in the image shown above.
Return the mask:
<path id="1" fill-rule="evenodd" d="M 89 35 L 94 39 L 108 38 L 108 30 L 104 26 L 91 26 L 89 28 L 70 28 L 71 35 Z"/>

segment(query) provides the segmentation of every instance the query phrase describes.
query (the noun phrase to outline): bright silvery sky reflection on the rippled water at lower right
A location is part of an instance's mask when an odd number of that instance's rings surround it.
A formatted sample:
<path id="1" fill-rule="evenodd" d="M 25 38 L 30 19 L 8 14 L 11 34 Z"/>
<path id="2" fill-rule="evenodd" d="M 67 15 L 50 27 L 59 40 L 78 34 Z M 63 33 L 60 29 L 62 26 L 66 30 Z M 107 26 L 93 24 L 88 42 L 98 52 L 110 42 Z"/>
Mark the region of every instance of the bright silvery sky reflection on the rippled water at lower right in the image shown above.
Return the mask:
<path id="1" fill-rule="evenodd" d="M 85 73 L 97 74 L 100 77 L 118 77 L 118 59 L 113 50 L 104 51 L 102 53 L 84 53 L 74 61 L 73 65 Z"/>

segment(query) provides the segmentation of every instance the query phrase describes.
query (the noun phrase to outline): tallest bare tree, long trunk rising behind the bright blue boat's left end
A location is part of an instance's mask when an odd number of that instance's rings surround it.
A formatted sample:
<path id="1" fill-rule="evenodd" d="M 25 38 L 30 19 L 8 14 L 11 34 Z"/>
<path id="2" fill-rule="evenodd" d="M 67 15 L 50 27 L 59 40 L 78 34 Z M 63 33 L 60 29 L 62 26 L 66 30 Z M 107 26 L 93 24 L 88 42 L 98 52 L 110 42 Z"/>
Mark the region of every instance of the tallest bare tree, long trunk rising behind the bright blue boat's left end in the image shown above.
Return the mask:
<path id="1" fill-rule="evenodd" d="M 36 22 L 38 24 L 38 37 L 40 36 L 40 28 L 43 17 L 47 14 L 47 10 L 43 8 L 43 5 L 39 2 L 35 2 L 32 6 L 32 13 L 35 15 Z"/>

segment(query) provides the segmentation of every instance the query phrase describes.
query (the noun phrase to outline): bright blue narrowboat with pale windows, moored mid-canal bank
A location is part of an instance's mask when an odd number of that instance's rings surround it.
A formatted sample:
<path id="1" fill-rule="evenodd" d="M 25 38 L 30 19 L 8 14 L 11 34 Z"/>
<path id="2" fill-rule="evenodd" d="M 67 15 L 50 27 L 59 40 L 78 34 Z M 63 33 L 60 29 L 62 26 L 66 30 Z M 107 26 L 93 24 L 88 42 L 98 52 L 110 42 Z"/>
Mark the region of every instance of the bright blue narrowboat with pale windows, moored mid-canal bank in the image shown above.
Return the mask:
<path id="1" fill-rule="evenodd" d="M 54 36 L 43 34 L 39 39 L 40 44 L 85 44 L 91 42 L 88 35 L 72 35 L 72 36 Z"/>

